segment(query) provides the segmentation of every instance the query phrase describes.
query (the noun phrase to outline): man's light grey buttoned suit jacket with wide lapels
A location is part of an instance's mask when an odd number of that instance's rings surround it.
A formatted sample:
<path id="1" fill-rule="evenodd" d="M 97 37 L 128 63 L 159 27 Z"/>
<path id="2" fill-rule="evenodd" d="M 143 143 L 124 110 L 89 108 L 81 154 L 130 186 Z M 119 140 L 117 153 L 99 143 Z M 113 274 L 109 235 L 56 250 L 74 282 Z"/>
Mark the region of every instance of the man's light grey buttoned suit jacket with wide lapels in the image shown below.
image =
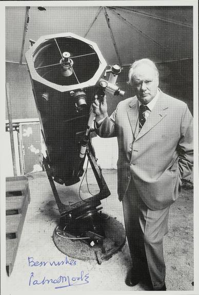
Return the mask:
<path id="1" fill-rule="evenodd" d="M 193 166 L 193 120 L 187 104 L 160 92 L 154 108 L 138 132 L 136 96 L 118 103 L 96 133 L 117 136 L 117 192 L 122 201 L 130 180 L 152 210 L 173 203 Z M 132 192 L 133 193 L 133 192 Z"/>

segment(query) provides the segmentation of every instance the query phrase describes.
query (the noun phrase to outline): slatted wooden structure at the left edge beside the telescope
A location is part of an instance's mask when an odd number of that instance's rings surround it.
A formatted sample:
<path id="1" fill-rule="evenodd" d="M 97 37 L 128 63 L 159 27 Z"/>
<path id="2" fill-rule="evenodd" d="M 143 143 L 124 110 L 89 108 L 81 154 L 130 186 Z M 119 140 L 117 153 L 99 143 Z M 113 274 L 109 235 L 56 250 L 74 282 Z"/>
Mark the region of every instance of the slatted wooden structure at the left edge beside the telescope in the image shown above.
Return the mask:
<path id="1" fill-rule="evenodd" d="M 6 177 L 6 270 L 10 276 L 30 203 L 26 176 Z"/>

